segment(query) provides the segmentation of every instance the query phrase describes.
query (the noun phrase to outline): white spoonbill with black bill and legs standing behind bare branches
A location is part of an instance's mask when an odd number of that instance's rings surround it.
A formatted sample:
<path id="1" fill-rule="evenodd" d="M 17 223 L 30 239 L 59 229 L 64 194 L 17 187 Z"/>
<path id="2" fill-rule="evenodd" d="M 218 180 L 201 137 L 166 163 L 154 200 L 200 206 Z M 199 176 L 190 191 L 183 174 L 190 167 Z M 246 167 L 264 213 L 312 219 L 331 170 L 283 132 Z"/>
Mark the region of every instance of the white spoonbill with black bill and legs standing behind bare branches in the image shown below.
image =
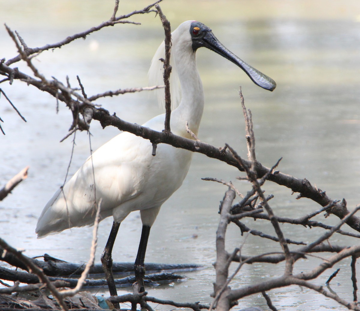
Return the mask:
<path id="1" fill-rule="evenodd" d="M 171 131 L 179 136 L 191 138 L 185 128 L 198 133 L 204 108 L 204 92 L 196 68 L 195 52 L 199 47 L 229 59 L 258 86 L 273 91 L 275 82 L 255 68 L 246 64 L 213 35 L 202 23 L 189 20 L 172 32 L 172 98 L 180 82 L 181 102 L 171 113 Z M 165 58 L 164 42 L 158 48 L 150 66 L 149 77 L 155 82 L 162 78 Z M 176 97 L 176 96 L 175 96 Z M 158 115 L 143 126 L 156 131 L 164 128 L 165 114 Z M 111 251 L 122 220 L 130 212 L 140 210 L 143 231 L 135 261 L 135 276 L 144 291 L 144 259 L 150 228 L 161 205 L 183 183 L 188 173 L 193 153 L 166 144 L 159 144 L 156 156 L 152 156 L 152 143 L 134 134 L 124 132 L 96 150 L 73 177 L 59 189 L 46 204 L 37 222 L 38 237 L 61 232 L 72 227 L 94 224 L 95 197 L 100 203 L 100 220 L 113 216 L 113 227 L 101 257 L 110 294 L 116 295 L 112 276 Z M 94 168 L 94 174 L 93 174 Z M 96 194 L 96 196 L 95 196 Z"/>

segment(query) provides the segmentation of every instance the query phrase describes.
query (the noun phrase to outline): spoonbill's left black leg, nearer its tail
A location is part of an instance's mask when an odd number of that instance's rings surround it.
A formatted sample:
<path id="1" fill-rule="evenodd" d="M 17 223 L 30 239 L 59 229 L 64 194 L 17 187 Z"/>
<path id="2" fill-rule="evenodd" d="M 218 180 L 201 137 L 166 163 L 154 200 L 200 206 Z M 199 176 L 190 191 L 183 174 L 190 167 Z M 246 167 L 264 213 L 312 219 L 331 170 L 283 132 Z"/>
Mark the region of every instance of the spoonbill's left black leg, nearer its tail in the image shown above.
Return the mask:
<path id="1" fill-rule="evenodd" d="M 106 276 L 106 280 L 108 281 L 109 291 L 111 296 L 117 296 L 114 276 L 112 274 L 112 258 L 111 252 L 114 246 L 114 242 L 116 239 L 117 232 L 119 230 L 120 223 L 113 222 L 113 226 L 111 228 L 111 232 L 108 238 L 108 242 L 104 248 L 104 251 L 101 255 L 101 263 L 103 265 L 104 273 Z M 116 307 L 116 306 L 115 306 Z"/>

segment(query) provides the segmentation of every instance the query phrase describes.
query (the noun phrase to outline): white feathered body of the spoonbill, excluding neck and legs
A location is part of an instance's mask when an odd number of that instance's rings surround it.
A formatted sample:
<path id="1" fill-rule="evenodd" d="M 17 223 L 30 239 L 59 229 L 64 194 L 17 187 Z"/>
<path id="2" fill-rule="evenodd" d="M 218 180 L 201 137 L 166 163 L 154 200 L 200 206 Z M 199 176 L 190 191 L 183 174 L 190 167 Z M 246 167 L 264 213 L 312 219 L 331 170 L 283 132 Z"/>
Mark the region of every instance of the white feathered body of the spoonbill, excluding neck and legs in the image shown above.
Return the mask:
<path id="1" fill-rule="evenodd" d="M 158 115 L 144 126 L 161 131 L 164 120 L 165 115 Z M 131 211 L 159 207 L 183 183 L 191 157 L 192 152 L 166 144 L 159 144 L 152 156 L 150 141 L 121 133 L 96 150 L 55 193 L 35 231 L 45 237 L 92 225 L 95 200 L 100 202 L 100 219 L 113 215 L 117 222 Z"/>

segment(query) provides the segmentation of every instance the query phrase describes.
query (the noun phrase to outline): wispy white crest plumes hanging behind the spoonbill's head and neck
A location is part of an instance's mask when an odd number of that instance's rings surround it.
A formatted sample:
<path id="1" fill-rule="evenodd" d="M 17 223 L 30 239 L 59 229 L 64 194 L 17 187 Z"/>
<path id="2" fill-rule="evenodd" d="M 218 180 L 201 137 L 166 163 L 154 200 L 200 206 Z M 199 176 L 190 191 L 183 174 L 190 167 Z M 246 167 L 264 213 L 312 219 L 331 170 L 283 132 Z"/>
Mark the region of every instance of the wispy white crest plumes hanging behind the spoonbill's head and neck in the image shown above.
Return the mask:
<path id="1" fill-rule="evenodd" d="M 148 72 L 149 86 L 164 85 L 164 67 L 160 59 L 165 59 L 165 41 L 158 47 L 150 64 Z M 172 54 L 170 54 L 170 65 L 172 67 L 170 74 L 170 94 L 171 94 L 171 110 L 179 106 L 181 101 L 181 88 L 179 76 L 177 74 L 176 65 Z M 159 107 L 165 109 L 165 89 L 158 88 L 155 90 Z"/>

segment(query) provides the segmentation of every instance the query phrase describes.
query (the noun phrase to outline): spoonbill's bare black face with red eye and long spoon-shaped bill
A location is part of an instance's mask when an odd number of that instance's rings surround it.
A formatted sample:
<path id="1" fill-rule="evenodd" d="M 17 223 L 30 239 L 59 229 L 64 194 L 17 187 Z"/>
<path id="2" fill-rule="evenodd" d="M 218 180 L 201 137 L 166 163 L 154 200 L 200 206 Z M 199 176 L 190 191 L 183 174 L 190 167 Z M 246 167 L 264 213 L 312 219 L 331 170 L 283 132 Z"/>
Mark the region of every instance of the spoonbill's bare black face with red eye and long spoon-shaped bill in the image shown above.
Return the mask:
<path id="1" fill-rule="evenodd" d="M 190 26 L 190 35 L 193 41 L 192 47 L 194 52 L 199 47 L 207 47 L 243 69 L 250 79 L 258 86 L 269 91 L 273 91 L 275 89 L 276 83 L 273 79 L 245 63 L 243 60 L 238 58 L 238 56 L 226 49 L 226 47 L 222 45 L 221 42 L 213 35 L 211 29 L 203 23 L 192 22 Z"/>

